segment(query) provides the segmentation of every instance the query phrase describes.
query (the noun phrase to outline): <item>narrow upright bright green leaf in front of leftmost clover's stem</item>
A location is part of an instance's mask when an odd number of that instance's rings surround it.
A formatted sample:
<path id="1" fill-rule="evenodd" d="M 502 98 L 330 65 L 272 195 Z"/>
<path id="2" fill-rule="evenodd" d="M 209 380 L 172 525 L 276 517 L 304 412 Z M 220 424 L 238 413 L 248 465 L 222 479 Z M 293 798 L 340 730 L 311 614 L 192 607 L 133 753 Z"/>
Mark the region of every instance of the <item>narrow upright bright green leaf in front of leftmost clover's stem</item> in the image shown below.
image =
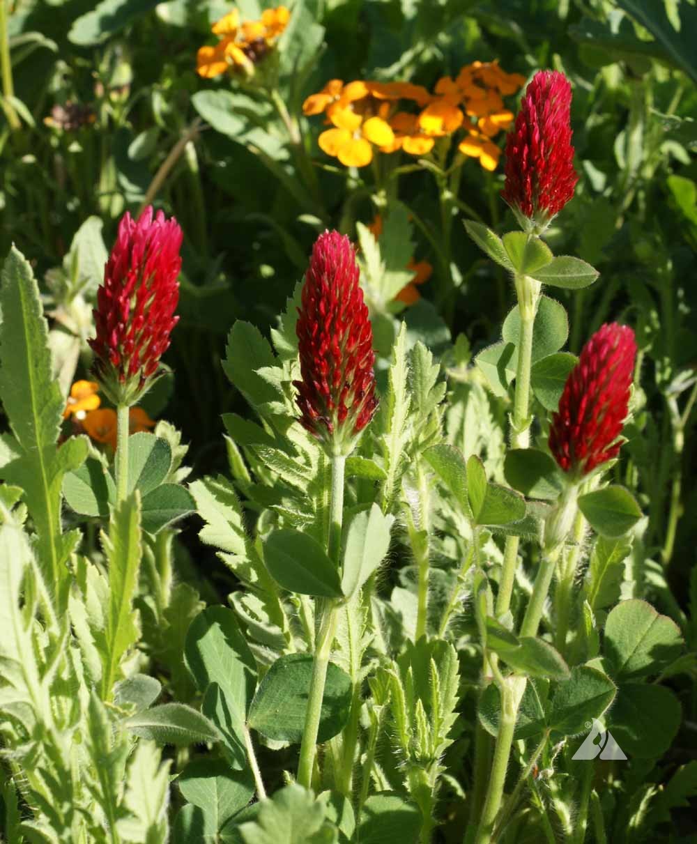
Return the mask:
<path id="1" fill-rule="evenodd" d="M 109 605 L 105 616 L 102 652 L 102 698 L 109 700 L 123 655 L 138 641 L 132 601 L 138 586 L 141 560 L 140 500 L 138 493 L 116 506 L 103 544 L 109 561 Z"/>

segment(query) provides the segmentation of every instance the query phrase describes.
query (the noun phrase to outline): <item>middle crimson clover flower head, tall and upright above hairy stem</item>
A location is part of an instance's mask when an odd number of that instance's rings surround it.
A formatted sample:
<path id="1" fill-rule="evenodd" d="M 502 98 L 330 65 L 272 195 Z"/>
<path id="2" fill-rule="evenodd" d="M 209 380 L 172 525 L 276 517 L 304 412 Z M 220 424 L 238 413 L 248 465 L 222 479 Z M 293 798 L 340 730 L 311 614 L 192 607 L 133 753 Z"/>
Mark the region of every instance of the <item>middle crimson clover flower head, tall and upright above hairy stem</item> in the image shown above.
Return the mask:
<path id="1" fill-rule="evenodd" d="M 355 249 L 338 231 L 312 248 L 295 330 L 300 422 L 327 452 L 348 454 L 376 412 L 375 354 Z"/>

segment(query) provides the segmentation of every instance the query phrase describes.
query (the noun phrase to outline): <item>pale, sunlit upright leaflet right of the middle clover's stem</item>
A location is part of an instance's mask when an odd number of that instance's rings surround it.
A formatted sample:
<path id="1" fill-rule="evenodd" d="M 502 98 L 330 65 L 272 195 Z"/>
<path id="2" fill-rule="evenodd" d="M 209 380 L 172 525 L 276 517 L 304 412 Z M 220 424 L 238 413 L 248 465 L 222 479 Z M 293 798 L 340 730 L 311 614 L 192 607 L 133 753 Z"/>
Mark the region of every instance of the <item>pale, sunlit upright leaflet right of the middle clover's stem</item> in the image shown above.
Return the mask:
<path id="1" fill-rule="evenodd" d="M 374 503 L 370 510 L 356 514 L 348 523 L 344 532 L 341 579 L 346 598 L 357 592 L 385 559 L 393 521 L 393 517 L 383 516 Z"/>

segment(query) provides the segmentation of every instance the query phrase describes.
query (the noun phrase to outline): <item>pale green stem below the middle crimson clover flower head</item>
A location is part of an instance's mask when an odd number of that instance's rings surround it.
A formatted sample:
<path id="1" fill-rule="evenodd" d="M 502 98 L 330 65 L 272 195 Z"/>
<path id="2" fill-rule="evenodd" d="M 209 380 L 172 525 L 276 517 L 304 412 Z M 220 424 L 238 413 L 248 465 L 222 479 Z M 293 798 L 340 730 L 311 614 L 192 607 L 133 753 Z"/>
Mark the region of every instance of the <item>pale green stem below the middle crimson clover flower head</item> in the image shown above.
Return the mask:
<path id="1" fill-rule="evenodd" d="M 343 482 L 346 469 L 346 457 L 332 457 L 332 503 L 330 505 L 331 522 L 329 525 L 328 555 L 338 566 L 341 554 L 341 533 L 343 522 Z M 324 686 L 327 682 L 327 666 L 332 653 L 332 644 L 337 630 L 338 605 L 332 601 L 316 599 L 316 637 L 315 660 L 312 664 L 312 677 L 307 701 L 305 729 L 300 744 L 298 763 L 298 782 L 305 788 L 311 787 L 312 771 L 315 767 L 317 731 L 320 726 L 321 703 L 324 698 Z"/>

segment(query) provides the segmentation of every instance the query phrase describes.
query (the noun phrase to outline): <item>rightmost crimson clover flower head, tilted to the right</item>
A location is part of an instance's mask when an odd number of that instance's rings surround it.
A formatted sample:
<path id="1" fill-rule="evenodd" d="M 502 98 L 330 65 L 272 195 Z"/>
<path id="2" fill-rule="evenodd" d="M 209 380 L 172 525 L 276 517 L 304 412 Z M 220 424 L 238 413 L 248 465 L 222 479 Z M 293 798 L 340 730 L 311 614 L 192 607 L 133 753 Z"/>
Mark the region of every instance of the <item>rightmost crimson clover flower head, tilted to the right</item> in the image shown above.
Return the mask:
<path id="1" fill-rule="evenodd" d="M 619 454 L 635 356 L 634 332 L 616 322 L 581 349 L 549 430 L 549 450 L 565 472 L 580 478 Z"/>

